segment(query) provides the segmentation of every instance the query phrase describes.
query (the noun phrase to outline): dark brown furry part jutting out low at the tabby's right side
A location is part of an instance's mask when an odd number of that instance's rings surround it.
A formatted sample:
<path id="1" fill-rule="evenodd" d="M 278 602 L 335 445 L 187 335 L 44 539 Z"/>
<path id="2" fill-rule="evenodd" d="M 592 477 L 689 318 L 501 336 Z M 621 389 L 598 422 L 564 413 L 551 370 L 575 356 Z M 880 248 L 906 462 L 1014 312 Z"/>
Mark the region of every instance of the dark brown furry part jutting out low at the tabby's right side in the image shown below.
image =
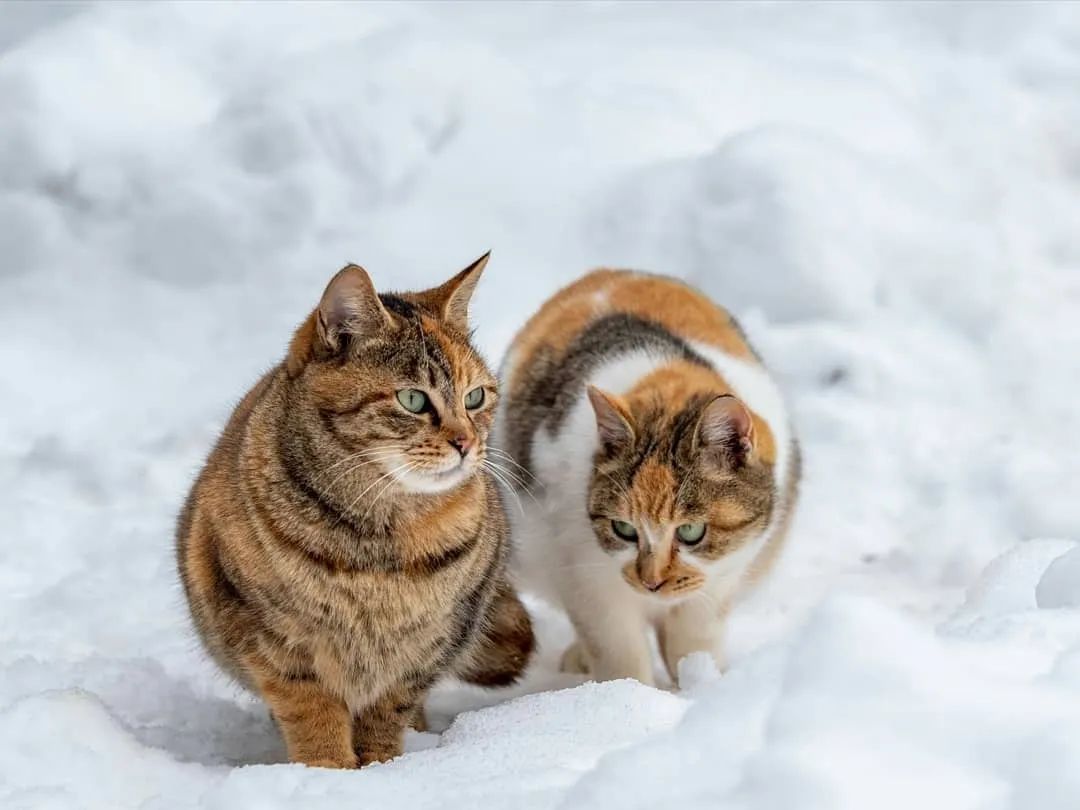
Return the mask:
<path id="1" fill-rule="evenodd" d="M 535 646 L 528 611 L 510 583 L 502 582 L 457 674 L 478 686 L 510 686 L 525 672 Z"/>

